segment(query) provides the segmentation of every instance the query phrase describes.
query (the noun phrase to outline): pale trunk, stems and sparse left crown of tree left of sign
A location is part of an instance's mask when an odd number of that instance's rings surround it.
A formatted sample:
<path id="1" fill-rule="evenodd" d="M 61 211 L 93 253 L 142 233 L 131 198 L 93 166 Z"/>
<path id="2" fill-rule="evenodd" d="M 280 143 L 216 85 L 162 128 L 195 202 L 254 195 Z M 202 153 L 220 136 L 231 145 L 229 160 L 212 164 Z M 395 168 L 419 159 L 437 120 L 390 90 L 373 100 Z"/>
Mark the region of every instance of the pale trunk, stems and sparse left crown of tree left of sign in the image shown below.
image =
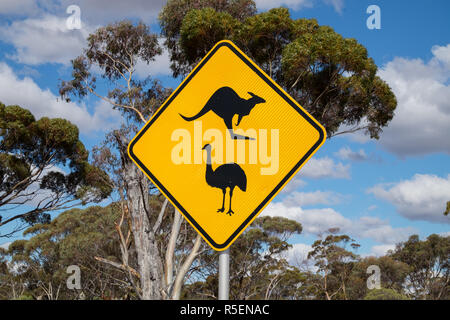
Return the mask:
<path id="1" fill-rule="evenodd" d="M 113 187 L 124 203 L 122 210 L 130 217 L 140 279 L 139 296 L 143 299 L 177 298 L 184 277 L 200 250 L 201 238 L 197 236 L 185 243 L 192 249 L 183 256 L 185 259 L 175 259 L 176 245 L 183 241 L 178 237 L 183 219 L 177 211 L 169 217 L 167 199 L 158 209 L 151 205 L 154 187 L 127 152 L 131 137 L 171 93 L 150 76 L 140 79 L 136 75 L 139 65 L 153 61 L 162 49 L 157 35 L 148 26 L 130 21 L 100 27 L 87 42 L 83 53 L 72 60 L 72 79 L 61 81 L 60 95 L 67 101 L 94 96 L 122 113 L 122 127 L 109 133 L 106 143 L 96 148 L 96 163 L 114 177 Z M 166 231 L 163 226 L 167 219 L 171 228 L 166 234 L 170 236 L 162 245 L 161 234 Z M 120 241 L 126 262 L 128 241 Z"/>

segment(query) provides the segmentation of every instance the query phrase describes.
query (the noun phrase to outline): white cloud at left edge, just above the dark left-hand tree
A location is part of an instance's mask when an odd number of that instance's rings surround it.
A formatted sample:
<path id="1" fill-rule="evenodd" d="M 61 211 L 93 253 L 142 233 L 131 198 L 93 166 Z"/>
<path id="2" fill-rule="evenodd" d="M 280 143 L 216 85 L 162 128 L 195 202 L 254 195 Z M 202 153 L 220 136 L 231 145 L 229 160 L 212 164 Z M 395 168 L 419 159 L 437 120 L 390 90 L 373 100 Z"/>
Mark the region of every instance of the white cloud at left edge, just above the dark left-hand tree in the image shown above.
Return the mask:
<path id="1" fill-rule="evenodd" d="M 41 89 L 31 78 L 20 79 L 5 63 L 0 62 L 0 101 L 19 105 L 41 117 L 64 118 L 76 124 L 81 132 L 102 131 L 117 126 L 120 114 L 108 104 L 100 102 L 91 114 L 85 106 L 58 99 L 50 90 Z"/>

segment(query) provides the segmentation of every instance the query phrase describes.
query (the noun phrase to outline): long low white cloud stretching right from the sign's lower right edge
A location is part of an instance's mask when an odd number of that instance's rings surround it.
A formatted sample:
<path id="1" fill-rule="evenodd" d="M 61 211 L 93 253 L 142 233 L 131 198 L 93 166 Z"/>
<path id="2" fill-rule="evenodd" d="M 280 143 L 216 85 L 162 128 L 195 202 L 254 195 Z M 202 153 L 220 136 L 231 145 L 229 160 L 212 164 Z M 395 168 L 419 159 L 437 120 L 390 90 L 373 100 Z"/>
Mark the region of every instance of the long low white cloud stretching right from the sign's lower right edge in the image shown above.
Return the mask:
<path id="1" fill-rule="evenodd" d="M 289 207 L 282 202 L 272 202 L 263 215 L 285 217 L 300 222 L 306 234 L 323 235 L 330 228 L 339 228 L 340 233 L 357 239 L 369 238 L 383 244 L 398 243 L 408 239 L 416 230 L 411 227 L 394 228 L 389 221 L 377 217 L 364 216 L 351 220 L 332 208 L 303 209 Z"/>

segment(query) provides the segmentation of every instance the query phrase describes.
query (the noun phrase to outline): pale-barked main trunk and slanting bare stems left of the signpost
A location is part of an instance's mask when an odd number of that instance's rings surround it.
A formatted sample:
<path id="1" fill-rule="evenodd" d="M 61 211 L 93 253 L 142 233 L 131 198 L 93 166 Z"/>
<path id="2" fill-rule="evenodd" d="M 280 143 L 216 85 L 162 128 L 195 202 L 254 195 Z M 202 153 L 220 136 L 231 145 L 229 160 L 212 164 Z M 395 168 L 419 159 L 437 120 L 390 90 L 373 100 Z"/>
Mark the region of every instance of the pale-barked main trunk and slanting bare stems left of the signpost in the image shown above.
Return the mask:
<path id="1" fill-rule="evenodd" d="M 119 137 L 118 141 L 119 141 Z M 152 212 L 148 203 L 147 177 L 131 161 L 126 152 L 127 141 L 120 137 L 120 152 L 122 158 L 122 170 L 125 180 L 127 205 L 131 217 L 131 228 L 137 254 L 138 270 L 140 275 L 140 287 L 142 299 L 179 299 L 184 279 L 192 263 L 198 255 L 201 245 L 201 237 L 197 235 L 193 248 L 184 262 L 178 268 L 174 279 L 175 249 L 180 233 L 183 217 L 175 210 L 174 221 L 170 233 L 165 256 L 165 266 L 160 255 L 156 234 L 159 232 L 167 200 L 164 202 L 161 212 L 152 226 L 149 217 L 156 214 Z"/>

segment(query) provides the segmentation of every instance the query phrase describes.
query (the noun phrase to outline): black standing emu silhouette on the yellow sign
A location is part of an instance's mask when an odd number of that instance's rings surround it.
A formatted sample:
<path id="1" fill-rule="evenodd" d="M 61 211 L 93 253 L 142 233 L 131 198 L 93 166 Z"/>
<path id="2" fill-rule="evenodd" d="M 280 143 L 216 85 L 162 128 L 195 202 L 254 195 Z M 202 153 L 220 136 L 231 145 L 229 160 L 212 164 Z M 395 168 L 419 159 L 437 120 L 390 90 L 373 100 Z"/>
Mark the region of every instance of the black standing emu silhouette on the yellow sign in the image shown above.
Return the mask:
<path id="1" fill-rule="evenodd" d="M 230 189 L 230 207 L 228 209 L 227 214 L 231 216 L 234 211 L 231 209 L 231 199 L 233 198 L 233 190 L 235 187 L 238 187 L 242 191 L 247 190 L 247 176 L 245 175 L 244 170 L 236 164 L 236 163 L 227 163 L 223 164 L 216 168 L 216 170 L 212 169 L 211 165 L 211 145 L 206 144 L 202 150 L 206 150 L 207 152 L 207 162 L 206 162 L 206 183 L 213 187 L 222 189 L 223 199 L 222 199 L 222 208 L 218 209 L 217 212 L 225 211 L 225 194 L 227 188 Z"/>

